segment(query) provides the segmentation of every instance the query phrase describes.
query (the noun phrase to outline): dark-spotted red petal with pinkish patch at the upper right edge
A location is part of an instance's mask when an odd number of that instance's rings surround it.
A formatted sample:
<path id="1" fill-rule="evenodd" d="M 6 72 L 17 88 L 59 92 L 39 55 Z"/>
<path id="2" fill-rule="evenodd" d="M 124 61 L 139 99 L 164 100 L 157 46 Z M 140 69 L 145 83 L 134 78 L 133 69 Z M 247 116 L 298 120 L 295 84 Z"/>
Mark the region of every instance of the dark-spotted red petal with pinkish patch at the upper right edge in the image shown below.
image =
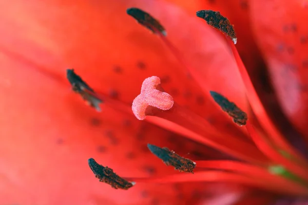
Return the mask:
<path id="1" fill-rule="evenodd" d="M 304 1 L 252 1 L 252 22 L 285 114 L 308 136 L 308 29 Z"/>

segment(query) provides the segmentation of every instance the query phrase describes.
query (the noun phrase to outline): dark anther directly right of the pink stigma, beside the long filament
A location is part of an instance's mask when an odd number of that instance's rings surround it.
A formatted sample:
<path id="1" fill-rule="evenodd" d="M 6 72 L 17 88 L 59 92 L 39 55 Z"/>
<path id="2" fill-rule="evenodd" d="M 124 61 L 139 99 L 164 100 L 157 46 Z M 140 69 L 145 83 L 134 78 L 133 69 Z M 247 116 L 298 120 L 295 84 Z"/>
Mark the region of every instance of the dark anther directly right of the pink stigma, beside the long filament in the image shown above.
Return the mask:
<path id="1" fill-rule="evenodd" d="M 221 94 L 214 91 L 209 91 L 209 93 L 213 97 L 215 102 L 221 107 L 221 109 L 228 113 L 228 115 L 233 118 L 233 121 L 238 126 L 246 125 L 247 114 L 244 111 L 242 111 L 234 103 L 230 102 Z"/>

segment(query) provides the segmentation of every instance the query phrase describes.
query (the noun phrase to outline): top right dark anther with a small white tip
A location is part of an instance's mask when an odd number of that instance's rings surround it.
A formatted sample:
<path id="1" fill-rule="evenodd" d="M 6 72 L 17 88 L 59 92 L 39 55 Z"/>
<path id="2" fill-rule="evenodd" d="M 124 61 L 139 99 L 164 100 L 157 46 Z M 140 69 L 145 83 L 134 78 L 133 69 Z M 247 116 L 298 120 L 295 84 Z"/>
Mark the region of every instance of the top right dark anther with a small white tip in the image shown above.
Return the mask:
<path id="1" fill-rule="evenodd" d="M 208 25 L 213 26 L 214 28 L 223 32 L 225 35 L 229 36 L 233 40 L 233 43 L 236 44 L 237 37 L 235 34 L 234 26 L 218 11 L 201 10 L 197 11 L 197 16 L 203 18 Z"/>

